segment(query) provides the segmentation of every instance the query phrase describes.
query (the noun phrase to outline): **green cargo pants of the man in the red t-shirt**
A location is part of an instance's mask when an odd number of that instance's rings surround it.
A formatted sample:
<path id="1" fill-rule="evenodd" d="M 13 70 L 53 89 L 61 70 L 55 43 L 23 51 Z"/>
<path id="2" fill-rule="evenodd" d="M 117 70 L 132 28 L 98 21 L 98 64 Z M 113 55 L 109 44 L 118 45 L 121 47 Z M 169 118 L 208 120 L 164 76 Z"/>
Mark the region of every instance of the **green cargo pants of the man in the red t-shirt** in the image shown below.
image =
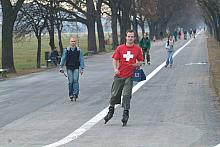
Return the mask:
<path id="1" fill-rule="evenodd" d="M 132 78 L 119 78 L 114 77 L 114 81 L 111 89 L 111 99 L 109 101 L 110 105 L 121 104 L 124 110 L 130 109 L 130 101 L 132 96 L 133 81 Z"/>

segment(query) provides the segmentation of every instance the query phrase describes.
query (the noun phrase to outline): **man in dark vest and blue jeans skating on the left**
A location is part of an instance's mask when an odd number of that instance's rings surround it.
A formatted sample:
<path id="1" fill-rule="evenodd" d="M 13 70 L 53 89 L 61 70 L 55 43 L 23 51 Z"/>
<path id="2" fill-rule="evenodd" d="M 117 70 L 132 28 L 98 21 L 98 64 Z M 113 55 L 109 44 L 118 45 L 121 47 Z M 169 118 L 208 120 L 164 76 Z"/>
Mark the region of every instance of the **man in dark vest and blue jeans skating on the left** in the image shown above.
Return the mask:
<path id="1" fill-rule="evenodd" d="M 64 49 L 60 62 L 60 72 L 64 73 L 63 66 L 66 65 L 67 77 L 69 81 L 69 97 L 78 98 L 79 95 L 79 73 L 83 74 L 84 57 L 82 49 L 77 46 L 77 39 L 70 38 L 70 46 Z"/>

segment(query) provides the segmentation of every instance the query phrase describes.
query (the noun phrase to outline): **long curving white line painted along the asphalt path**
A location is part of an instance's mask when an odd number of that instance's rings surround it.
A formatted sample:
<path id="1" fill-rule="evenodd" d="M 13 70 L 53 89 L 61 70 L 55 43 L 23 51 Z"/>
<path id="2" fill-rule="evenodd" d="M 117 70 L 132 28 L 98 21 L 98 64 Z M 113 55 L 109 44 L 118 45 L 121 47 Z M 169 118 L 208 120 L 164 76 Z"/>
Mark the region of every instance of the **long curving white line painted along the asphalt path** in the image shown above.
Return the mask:
<path id="1" fill-rule="evenodd" d="M 198 33 L 199 34 L 199 33 Z M 185 45 L 183 45 L 181 48 L 179 48 L 174 54 L 173 57 L 175 57 L 183 48 L 185 48 L 193 39 L 190 39 Z M 141 86 L 143 86 L 146 82 L 148 82 L 153 76 L 155 76 L 163 67 L 165 66 L 165 61 L 159 65 L 154 71 L 152 71 L 147 77 L 146 80 L 139 82 L 132 88 L 132 94 L 134 94 Z M 119 105 L 116 105 L 115 107 L 118 107 Z M 86 131 L 88 131 L 90 128 L 92 128 L 95 124 L 97 124 L 101 119 L 105 117 L 105 115 L 108 112 L 108 107 L 106 107 L 104 110 L 99 112 L 96 116 L 94 116 L 92 119 L 90 119 L 88 122 L 83 124 L 80 128 L 76 129 L 74 132 L 66 136 L 65 138 L 54 142 L 49 145 L 45 145 L 43 147 L 57 147 L 64 144 L 67 144 L 75 139 L 77 139 L 79 136 L 84 134 Z"/>

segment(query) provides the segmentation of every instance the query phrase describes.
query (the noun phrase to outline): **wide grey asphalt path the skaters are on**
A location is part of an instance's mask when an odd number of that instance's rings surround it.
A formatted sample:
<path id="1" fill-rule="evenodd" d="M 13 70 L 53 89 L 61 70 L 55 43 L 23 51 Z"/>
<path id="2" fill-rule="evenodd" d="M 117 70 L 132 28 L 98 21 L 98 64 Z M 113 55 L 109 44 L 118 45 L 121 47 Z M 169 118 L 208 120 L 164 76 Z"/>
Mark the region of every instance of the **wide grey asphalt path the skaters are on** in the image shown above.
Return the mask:
<path id="1" fill-rule="evenodd" d="M 176 50 L 187 41 L 175 44 Z M 98 121 L 65 147 L 213 147 L 220 143 L 220 106 L 209 85 L 206 36 L 202 32 L 134 94 L 130 118 L 123 109 Z M 166 59 L 165 40 L 153 43 L 149 75 Z M 85 59 L 80 95 L 70 102 L 58 69 L 0 81 L 0 147 L 40 147 L 71 134 L 108 106 L 112 53 Z M 136 84 L 136 83 L 135 83 Z"/>

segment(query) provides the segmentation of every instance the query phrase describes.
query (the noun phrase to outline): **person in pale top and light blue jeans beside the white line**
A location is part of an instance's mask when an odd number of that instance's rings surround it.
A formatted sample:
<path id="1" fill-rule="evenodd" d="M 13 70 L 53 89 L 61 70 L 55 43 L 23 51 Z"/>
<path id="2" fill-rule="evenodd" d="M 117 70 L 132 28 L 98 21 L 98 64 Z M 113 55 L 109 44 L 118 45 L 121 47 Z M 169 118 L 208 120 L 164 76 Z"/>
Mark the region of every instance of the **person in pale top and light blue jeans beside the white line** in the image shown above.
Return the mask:
<path id="1" fill-rule="evenodd" d="M 169 64 L 170 64 L 170 67 L 172 67 L 172 65 L 173 65 L 173 53 L 174 53 L 174 39 L 173 39 L 172 35 L 168 36 L 168 40 L 166 42 L 165 48 L 167 50 L 167 60 L 166 60 L 165 67 L 167 67 Z"/>

